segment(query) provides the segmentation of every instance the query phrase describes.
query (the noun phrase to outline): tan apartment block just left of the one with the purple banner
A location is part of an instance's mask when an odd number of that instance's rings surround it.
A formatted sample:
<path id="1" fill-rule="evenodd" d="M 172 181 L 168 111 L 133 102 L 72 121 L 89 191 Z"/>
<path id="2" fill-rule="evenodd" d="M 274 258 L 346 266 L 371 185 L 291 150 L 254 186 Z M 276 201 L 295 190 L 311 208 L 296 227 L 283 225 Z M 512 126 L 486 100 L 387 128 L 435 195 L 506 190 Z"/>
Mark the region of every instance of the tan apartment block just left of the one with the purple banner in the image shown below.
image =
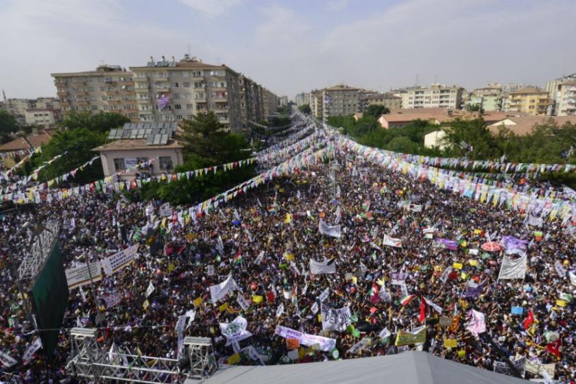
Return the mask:
<path id="1" fill-rule="evenodd" d="M 132 72 L 119 65 L 100 65 L 95 71 L 52 73 L 60 107 L 71 111 L 116 112 L 139 121 Z"/>

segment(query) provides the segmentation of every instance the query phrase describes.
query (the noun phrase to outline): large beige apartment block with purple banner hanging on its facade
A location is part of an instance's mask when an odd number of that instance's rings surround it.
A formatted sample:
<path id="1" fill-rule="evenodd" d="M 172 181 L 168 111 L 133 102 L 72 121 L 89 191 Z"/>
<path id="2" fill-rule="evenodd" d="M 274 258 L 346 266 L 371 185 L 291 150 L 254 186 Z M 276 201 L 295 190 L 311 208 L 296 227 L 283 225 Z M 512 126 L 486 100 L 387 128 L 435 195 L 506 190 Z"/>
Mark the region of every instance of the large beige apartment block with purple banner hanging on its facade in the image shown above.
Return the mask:
<path id="1" fill-rule="evenodd" d="M 130 67 L 141 121 L 180 121 L 213 111 L 229 130 L 241 130 L 239 73 L 188 55 L 178 62 L 154 61 Z"/>

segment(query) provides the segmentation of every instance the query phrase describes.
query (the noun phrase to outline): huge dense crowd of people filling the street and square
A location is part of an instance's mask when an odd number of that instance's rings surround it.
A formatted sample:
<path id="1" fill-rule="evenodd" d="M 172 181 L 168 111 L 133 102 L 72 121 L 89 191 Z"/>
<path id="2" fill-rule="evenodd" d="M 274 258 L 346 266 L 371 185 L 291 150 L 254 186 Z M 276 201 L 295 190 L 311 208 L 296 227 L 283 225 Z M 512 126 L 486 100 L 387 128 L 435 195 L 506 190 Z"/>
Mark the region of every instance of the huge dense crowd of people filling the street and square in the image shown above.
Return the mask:
<path id="1" fill-rule="evenodd" d="M 166 208 L 139 200 L 137 193 L 88 194 L 0 218 L 0 352 L 18 361 L 7 372 L 27 383 L 47 375 L 72 381 L 65 364 L 69 329 L 75 326 L 97 327 L 106 350 L 176 359 L 178 317 L 193 313 L 183 335 L 211 337 L 220 363 L 307 363 L 417 349 L 488 370 L 525 357 L 537 367 L 555 363 L 549 376 L 562 383 L 576 380 L 576 281 L 571 280 L 576 240 L 566 235 L 560 219 L 536 228 L 527 224 L 527 213 L 436 189 L 338 148 L 331 160 L 240 193 L 207 215 L 182 217 L 176 207 L 174 215 L 163 217 Z M 21 258 L 32 237 L 32 226 L 16 230 L 49 220 L 61 223 L 65 268 L 139 247 L 136 259 L 119 272 L 71 289 L 53 361 L 47 363 L 38 351 L 23 362 L 37 334 L 10 260 Z M 338 224 L 339 237 L 323 235 L 321 220 Z M 523 279 L 498 280 L 503 251 L 481 248 L 488 237 L 504 236 L 529 242 Z M 400 239 L 401 248 L 387 245 L 387 238 Z M 437 239 L 455 241 L 456 249 Z M 335 273 L 312 274 L 311 260 L 331 261 Z M 238 289 L 212 302 L 210 287 L 229 276 Z M 150 285 L 154 290 L 147 296 Z M 474 294 L 466 294 L 468 286 Z M 120 300 L 108 306 L 106 295 Z M 344 330 L 323 331 L 317 310 L 322 306 L 349 306 Z M 472 310 L 483 314 L 484 332 L 470 332 Z M 102 324 L 96 324 L 99 311 L 106 315 Z M 252 336 L 235 346 L 219 324 L 238 316 Z M 294 346 L 276 335 L 278 325 L 335 339 L 335 348 Z M 423 343 L 396 345 L 400 331 L 420 326 L 427 331 Z M 445 344 L 447 339 L 452 344 Z M 237 353 L 238 346 L 252 346 L 256 357 Z"/>

